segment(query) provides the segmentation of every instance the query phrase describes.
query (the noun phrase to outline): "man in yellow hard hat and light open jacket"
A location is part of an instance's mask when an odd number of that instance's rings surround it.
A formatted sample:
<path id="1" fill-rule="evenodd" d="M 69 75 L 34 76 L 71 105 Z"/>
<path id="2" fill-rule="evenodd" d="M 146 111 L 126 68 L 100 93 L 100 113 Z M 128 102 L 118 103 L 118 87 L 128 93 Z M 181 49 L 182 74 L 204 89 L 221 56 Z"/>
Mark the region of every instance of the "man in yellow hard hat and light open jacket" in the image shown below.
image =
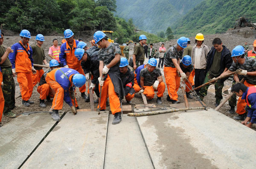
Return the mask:
<path id="1" fill-rule="evenodd" d="M 204 35 L 197 34 L 195 36 L 196 45 L 193 46 L 191 51 L 191 59 L 194 64 L 195 70 L 192 71 L 192 75 L 195 75 L 195 87 L 204 84 L 204 78 L 206 75 L 206 57 L 209 52 L 208 46 L 204 45 Z M 199 90 L 197 91 L 197 93 Z"/>

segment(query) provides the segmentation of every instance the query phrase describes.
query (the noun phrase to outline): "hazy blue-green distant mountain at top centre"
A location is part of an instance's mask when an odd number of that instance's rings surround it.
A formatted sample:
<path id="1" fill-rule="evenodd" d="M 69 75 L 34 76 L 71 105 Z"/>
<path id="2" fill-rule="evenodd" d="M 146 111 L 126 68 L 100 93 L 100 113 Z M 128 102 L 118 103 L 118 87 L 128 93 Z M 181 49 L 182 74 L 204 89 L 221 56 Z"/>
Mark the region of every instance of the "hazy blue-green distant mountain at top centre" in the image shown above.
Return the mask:
<path id="1" fill-rule="evenodd" d="M 139 29 L 151 33 L 173 27 L 190 9 L 203 0 L 116 0 L 116 14 L 132 18 Z"/>

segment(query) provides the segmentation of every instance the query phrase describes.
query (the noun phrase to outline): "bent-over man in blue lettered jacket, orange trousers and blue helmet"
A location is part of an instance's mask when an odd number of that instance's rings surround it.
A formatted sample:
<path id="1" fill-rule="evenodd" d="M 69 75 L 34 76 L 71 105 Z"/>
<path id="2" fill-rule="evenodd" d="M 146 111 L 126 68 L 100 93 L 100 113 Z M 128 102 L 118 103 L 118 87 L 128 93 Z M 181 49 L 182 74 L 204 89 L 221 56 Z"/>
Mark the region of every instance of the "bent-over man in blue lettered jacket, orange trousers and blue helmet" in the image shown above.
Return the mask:
<path id="1" fill-rule="evenodd" d="M 57 68 L 47 73 L 45 80 L 55 90 L 52 101 L 52 119 L 54 121 L 61 120 L 58 110 L 62 109 L 63 99 L 71 107 L 72 113 L 76 114 L 78 104 L 76 99 L 74 99 L 76 96 L 75 88 L 84 85 L 86 82 L 84 75 L 70 68 Z M 76 106 L 74 106 L 75 104 Z"/>

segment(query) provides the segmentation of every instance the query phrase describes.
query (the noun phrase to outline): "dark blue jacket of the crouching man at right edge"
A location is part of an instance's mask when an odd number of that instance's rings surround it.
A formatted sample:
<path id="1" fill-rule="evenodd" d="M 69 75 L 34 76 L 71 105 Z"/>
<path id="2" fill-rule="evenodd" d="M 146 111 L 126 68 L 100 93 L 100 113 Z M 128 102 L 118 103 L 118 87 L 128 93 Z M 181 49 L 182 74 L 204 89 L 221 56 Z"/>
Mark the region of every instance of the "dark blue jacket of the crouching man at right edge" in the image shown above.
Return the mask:
<path id="1" fill-rule="evenodd" d="M 245 99 L 246 102 L 246 96 L 247 96 L 247 92 L 248 92 L 249 87 L 247 88 L 246 92 L 243 93 L 242 98 L 241 99 Z M 251 93 L 248 96 L 248 101 L 251 104 L 251 107 L 247 106 L 247 117 L 251 118 L 251 123 L 256 123 L 256 93 Z"/>

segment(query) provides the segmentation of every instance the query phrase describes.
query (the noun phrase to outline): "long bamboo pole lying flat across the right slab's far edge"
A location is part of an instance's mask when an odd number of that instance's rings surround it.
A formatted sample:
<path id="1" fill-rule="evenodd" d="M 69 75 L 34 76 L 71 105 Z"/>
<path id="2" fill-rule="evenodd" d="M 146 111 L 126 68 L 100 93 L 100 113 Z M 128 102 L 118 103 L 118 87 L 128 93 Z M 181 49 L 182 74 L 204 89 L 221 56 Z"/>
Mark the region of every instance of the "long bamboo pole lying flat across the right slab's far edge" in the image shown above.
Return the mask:
<path id="1" fill-rule="evenodd" d="M 156 114 L 163 114 L 163 113 L 172 113 L 172 112 L 179 112 L 179 111 L 186 111 L 186 110 L 202 110 L 202 109 L 205 109 L 205 107 L 188 107 L 188 108 L 180 108 L 180 109 L 159 110 L 159 111 L 152 111 L 152 112 L 128 113 L 128 116 L 156 115 Z"/>

